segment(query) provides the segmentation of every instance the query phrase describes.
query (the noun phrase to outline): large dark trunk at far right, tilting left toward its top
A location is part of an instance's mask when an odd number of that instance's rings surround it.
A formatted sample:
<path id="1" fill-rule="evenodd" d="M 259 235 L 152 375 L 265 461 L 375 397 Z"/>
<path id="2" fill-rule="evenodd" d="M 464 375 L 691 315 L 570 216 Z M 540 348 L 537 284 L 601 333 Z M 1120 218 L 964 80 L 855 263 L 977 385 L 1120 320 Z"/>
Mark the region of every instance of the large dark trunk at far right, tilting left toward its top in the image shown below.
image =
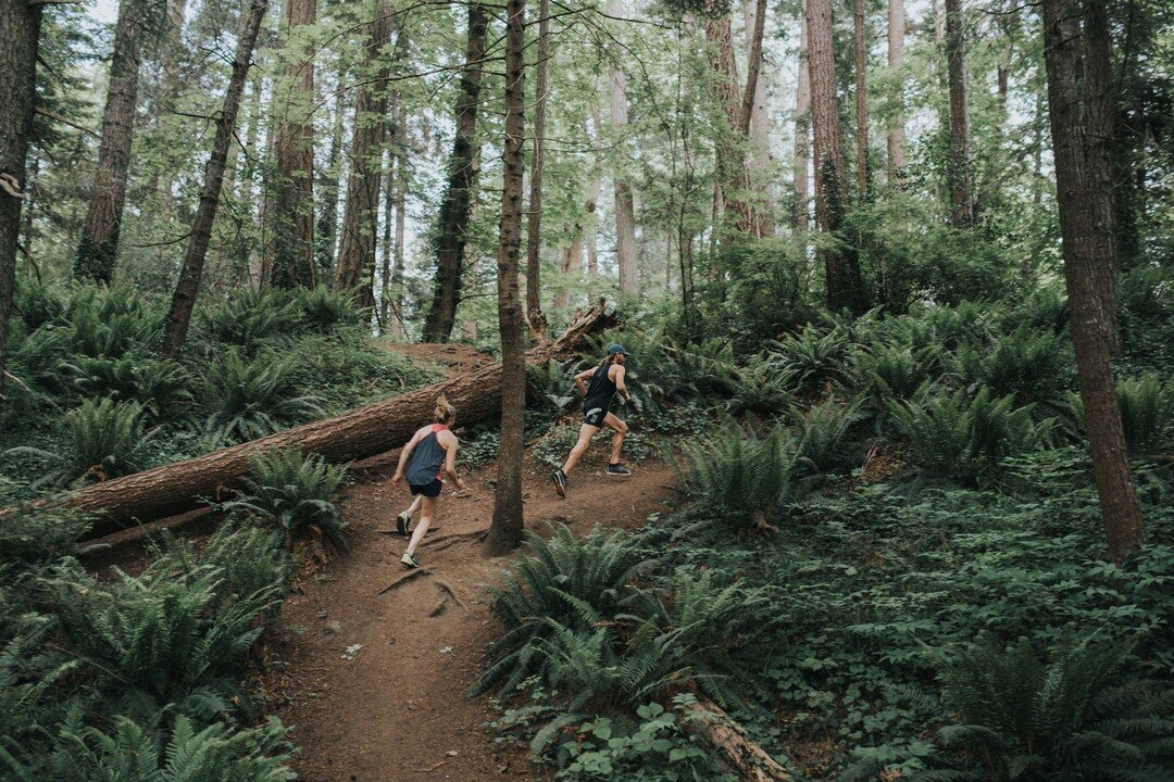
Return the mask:
<path id="1" fill-rule="evenodd" d="M 1111 334 L 1105 324 L 1105 270 L 1115 268 L 1112 158 L 1101 147 L 1112 122 L 1114 96 L 1099 70 L 1108 49 L 1108 29 L 1099 23 L 1104 6 L 1085 0 L 1085 46 L 1077 0 L 1044 0 L 1044 50 L 1055 158 L 1057 199 L 1064 246 L 1064 277 L 1072 310 L 1070 327 L 1077 376 L 1085 408 L 1101 516 L 1114 562 L 1145 542 L 1141 506 L 1116 402 Z M 1098 40 L 1098 39 L 1101 40 Z M 1107 117 L 1106 117 L 1107 115 Z"/>

